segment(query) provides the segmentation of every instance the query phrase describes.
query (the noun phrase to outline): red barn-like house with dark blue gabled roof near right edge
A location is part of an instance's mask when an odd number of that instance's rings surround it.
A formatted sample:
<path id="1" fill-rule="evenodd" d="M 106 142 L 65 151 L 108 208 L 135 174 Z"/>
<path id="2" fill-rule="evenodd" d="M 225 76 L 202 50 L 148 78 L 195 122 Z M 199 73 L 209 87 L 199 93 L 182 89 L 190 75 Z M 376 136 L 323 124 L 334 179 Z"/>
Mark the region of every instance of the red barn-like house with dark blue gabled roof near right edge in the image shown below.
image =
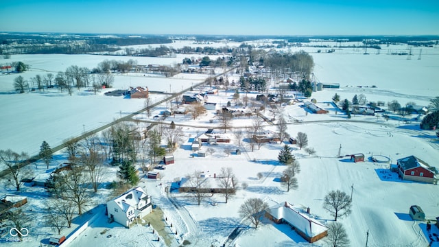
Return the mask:
<path id="1" fill-rule="evenodd" d="M 427 163 L 420 161 L 415 156 L 400 158 L 396 161 L 398 165 L 398 174 L 403 180 L 412 180 L 424 183 L 435 183 L 437 178 L 436 169 L 430 167 Z"/>

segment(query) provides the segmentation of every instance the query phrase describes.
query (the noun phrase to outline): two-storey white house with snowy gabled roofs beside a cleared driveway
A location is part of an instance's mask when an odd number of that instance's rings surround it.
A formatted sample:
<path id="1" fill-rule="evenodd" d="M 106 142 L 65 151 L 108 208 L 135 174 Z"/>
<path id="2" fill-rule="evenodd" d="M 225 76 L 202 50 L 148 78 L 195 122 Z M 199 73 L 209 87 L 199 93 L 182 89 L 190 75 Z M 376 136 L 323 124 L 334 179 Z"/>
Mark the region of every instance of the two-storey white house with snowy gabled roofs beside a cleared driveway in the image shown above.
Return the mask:
<path id="1" fill-rule="evenodd" d="M 107 202 L 108 219 L 126 227 L 136 218 L 142 218 L 151 211 L 151 197 L 141 187 L 126 191 Z"/>

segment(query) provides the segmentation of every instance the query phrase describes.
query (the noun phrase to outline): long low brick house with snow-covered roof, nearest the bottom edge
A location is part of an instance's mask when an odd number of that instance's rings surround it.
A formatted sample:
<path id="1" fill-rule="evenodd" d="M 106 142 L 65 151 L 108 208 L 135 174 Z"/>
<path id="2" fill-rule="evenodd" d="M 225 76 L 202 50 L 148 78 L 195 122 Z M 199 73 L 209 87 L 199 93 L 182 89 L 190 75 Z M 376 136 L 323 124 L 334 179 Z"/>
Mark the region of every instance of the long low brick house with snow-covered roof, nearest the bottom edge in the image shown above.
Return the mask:
<path id="1" fill-rule="evenodd" d="M 276 222 L 276 224 L 289 224 L 298 235 L 310 243 L 316 242 L 328 235 L 327 226 L 311 217 L 309 211 L 298 209 L 288 202 L 270 207 L 265 213 L 265 217 Z"/>

